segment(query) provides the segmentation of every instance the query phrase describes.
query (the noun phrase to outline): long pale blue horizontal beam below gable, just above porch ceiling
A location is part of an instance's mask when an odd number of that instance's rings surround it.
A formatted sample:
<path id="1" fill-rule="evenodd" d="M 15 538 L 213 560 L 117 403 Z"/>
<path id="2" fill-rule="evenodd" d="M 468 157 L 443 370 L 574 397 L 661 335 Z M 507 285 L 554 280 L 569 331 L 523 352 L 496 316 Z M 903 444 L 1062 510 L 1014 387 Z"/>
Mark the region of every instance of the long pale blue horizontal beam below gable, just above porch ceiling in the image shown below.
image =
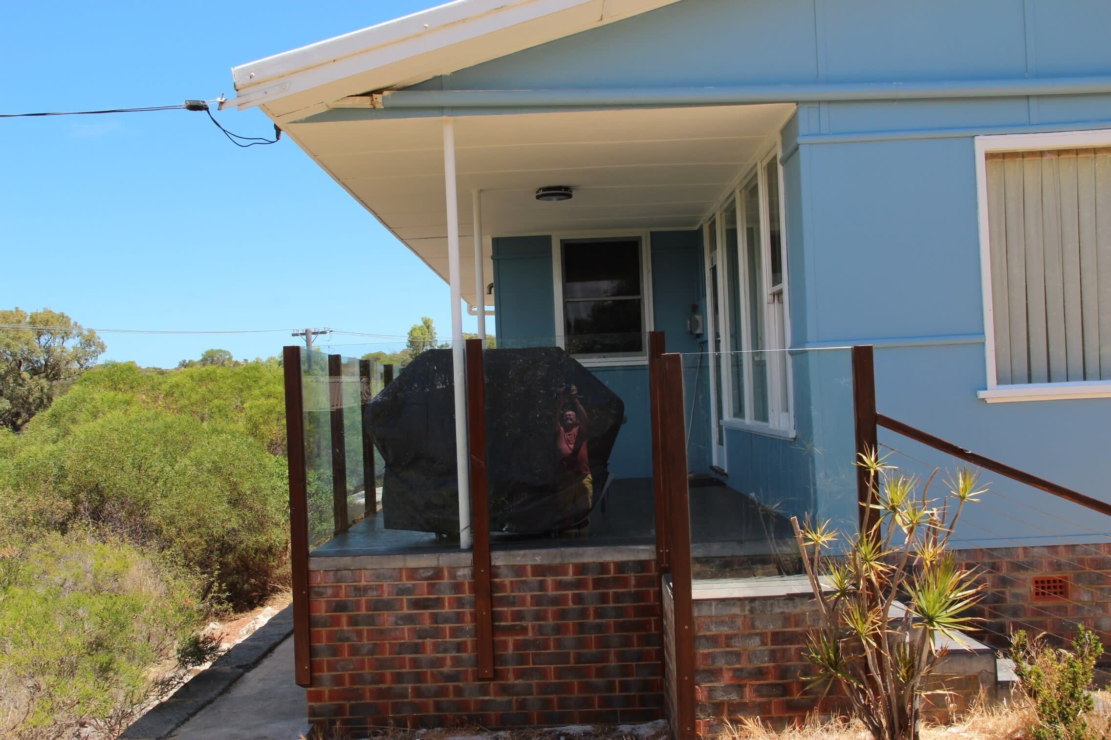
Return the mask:
<path id="1" fill-rule="evenodd" d="M 840 82 L 750 84 L 719 88 L 570 88 L 567 90 L 387 90 L 374 95 L 381 108 L 563 108 L 741 105 L 867 100 L 1085 95 L 1111 92 L 1111 75 L 944 80 L 924 82 Z"/>

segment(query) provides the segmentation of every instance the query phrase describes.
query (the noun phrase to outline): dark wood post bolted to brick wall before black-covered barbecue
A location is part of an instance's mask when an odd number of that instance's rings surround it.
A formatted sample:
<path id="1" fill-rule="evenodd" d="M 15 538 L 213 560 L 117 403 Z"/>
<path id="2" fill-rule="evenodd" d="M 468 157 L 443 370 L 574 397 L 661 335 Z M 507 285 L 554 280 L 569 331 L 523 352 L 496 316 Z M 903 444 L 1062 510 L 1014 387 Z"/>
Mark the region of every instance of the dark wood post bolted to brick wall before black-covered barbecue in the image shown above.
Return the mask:
<path id="1" fill-rule="evenodd" d="M 493 600 L 490 595 L 490 496 L 487 479 L 486 371 L 482 339 L 467 339 L 467 436 L 470 443 L 471 556 L 479 679 L 493 679 Z"/>

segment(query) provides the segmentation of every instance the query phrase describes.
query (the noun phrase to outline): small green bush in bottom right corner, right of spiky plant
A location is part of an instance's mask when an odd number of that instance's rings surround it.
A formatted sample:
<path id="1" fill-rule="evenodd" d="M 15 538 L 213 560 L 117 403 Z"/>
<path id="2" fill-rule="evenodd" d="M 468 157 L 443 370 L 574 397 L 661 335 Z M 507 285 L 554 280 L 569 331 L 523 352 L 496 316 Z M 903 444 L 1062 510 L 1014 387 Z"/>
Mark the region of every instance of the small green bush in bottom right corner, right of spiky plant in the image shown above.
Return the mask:
<path id="1" fill-rule="evenodd" d="M 1094 702 L 1089 689 L 1103 645 L 1095 632 L 1078 625 L 1071 649 L 1052 648 L 1041 636 L 1024 630 L 1011 638 L 1011 660 L 1019 688 L 1030 699 L 1038 724 L 1030 732 L 1038 740 L 1098 740 L 1085 719 Z"/>

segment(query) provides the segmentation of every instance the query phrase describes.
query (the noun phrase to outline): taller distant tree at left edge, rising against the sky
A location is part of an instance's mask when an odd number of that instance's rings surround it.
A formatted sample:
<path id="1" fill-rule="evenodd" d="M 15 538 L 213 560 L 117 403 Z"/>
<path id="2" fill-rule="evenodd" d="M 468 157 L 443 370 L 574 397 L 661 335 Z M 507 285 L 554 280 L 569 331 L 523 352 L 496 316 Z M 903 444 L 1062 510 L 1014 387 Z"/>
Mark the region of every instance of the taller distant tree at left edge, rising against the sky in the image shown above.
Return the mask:
<path id="1" fill-rule="evenodd" d="M 0 311 L 0 426 L 18 432 L 104 348 L 96 332 L 63 313 Z"/>

